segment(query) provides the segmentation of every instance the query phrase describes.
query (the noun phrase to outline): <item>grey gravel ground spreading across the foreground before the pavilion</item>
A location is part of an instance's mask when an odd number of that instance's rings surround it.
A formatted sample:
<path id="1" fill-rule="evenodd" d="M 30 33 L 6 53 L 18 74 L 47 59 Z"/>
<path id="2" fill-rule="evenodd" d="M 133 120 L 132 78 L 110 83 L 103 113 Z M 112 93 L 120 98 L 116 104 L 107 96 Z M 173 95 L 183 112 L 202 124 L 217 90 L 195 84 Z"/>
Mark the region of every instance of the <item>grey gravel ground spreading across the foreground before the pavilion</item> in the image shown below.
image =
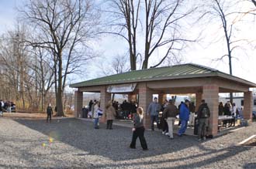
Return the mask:
<path id="1" fill-rule="evenodd" d="M 256 123 L 205 142 L 146 131 L 147 151 L 139 140 L 129 148 L 130 128 L 105 127 L 74 118 L 0 118 L 0 168 L 256 168 L 256 148 L 237 146 L 256 134 Z"/>

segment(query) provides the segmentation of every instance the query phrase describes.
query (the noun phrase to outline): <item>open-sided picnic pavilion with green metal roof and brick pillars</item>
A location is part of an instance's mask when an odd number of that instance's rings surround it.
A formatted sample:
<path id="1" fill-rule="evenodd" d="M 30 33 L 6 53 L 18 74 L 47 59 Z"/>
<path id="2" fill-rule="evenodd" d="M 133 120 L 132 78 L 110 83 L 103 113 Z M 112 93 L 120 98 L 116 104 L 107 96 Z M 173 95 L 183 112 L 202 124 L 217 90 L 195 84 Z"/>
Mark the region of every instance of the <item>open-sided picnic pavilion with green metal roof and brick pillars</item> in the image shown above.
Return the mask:
<path id="1" fill-rule="evenodd" d="M 160 103 L 167 94 L 195 93 L 196 110 L 202 99 L 209 105 L 211 116 L 209 129 L 213 136 L 218 131 L 219 93 L 244 93 L 244 119 L 252 119 L 253 95 L 249 90 L 256 87 L 245 79 L 230 76 L 217 69 L 195 64 L 166 66 L 153 69 L 134 70 L 98 79 L 91 79 L 70 85 L 78 88 L 74 93 L 74 112 L 81 117 L 83 92 L 100 93 L 100 103 L 104 111 L 112 93 L 128 94 L 128 100 L 137 100 L 139 106 L 147 110 L 152 95 L 158 94 Z M 79 116 L 80 115 L 80 116 Z M 150 126 L 150 117 L 144 116 L 146 127 Z"/>

